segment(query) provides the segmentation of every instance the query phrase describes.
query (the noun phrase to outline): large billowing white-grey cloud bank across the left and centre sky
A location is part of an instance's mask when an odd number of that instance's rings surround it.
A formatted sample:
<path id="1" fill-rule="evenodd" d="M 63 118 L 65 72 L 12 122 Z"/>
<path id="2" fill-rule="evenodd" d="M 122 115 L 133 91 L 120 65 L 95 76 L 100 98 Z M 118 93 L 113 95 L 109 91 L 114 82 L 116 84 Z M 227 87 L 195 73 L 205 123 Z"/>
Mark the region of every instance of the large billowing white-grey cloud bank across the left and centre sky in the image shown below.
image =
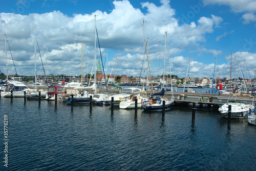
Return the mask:
<path id="1" fill-rule="evenodd" d="M 74 2 L 79 4 L 79 1 Z M 170 58 L 172 74 L 186 75 L 188 58 L 182 56 L 186 51 L 193 50 L 201 55 L 215 54 L 215 50 L 203 46 L 202 43 L 208 43 L 207 36 L 213 34 L 216 28 L 222 27 L 223 18 L 220 16 L 201 16 L 197 20 L 180 25 L 176 10 L 170 6 L 168 0 L 160 1 L 160 5 L 141 3 L 141 8 L 146 9 L 144 10 L 146 12 L 133 7 L 127 0 L 114 1 L 113 5 L 114 8 L 109 13 L 97 10 L 90 14 L 73 14 L 73 16 L 61 11 L 29 15 L 0 13 L 0 34 L 6 33 L 8 36 L 14 62 L 20 72 L 18 74 L 34 74 L 34 25 L 36 25 L 36 37 L 44 65 L 47 61 L 48 74 L 80 75 L 81 41 L 83 67 L 90 73 L 94 67 L 95 15 L 102 57 L 106 59 L 106 52 L 109 52 L 108 74 L 114 67 L 115 56 L 118 57 L 115 63 L 118 75 L 140 74 L 143 60 L 147 61 L 146 55 L 143 55 L 143 20 L 145 39 L 148 38 L 148 61 L 154 76 L 161 74 L 159 65 L 163 63 L 165 31 L 168 42 L 166 60 L 167 57 Z M 218 40 L 230 33 L 224 33 Z M 5 49 L 4 39 L 0 39 L 0 47 L 2 50 Z M 48 55 L 46 55 L 47 47 Z M 96 48 L 98 59 L 98 42 Z M 218 51 L 218 54 L 221 53 L 222 51 Z M 8 64 L 11 65 L 10 53 L 7 54 Z M 5 52 L 0 51 L 0 59 L 5 61 Z M 211 75 L 212 66 L 202 62 L 191 62 L 193 75 L 197 77 Z M 147 63 L 144 64 L 147 68 Z M 36 65 L 37 69 L 41 66 L 38 47 L 36 47 Z M 1 70 L 5 68 L 5 62 L 0 63 L 0 67 Z M 207 70 L 207 67 L 210 70 Z M 8 70 L 13 72 L 14 69 L 9 66 Z"/>

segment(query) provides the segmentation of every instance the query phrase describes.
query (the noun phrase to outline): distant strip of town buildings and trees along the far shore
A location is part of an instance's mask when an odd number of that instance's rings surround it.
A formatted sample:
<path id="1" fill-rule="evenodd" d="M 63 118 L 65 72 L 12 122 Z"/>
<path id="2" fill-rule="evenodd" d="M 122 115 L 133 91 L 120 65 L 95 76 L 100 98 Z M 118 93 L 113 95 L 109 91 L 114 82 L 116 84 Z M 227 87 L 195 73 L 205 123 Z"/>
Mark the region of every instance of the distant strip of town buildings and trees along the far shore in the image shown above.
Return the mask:
<path id="1" fill-rule="evenodd" d="M 3 76 L 4 79 L 6 76 Z M 8 78 L 12 78 L 14 80 L 19 80 L 27 83 L 32 83 L 34 82 L 34 76 L 14 76 L 14 75 L 9 75 Z M 106 81 L 105 81 L 106 78 Z M 68 82 L 81 82 L 81 75 L 80 76 L 67 76 L 67 75 L 48 75 L 48 76 L 42 76 L 39 75 L 37 78 L 37 81 L 39 82 L 44 82 L 47 80 L 47 82 L 63 82 L 65 81 L 66 83 Z M 87 74 L 86 76 L 82 76 L 82 82 L 83 83 L 89 83 L 94 81 L 94 75 Z M 185 77 L 185 78 L 178 78 L 177 76 L 172 75 L 172 79 L 170 78 L 170 75 L 167 75 L 163 79 L 162 76 L 152 76 L 150 77 L 140 77 L 140 76 L 117 76 L 117 75 L 104 75 L 101 74 L 101 72 L 96 72 L 96 83 L 99 85 L 105 85 L 105 83 L 108 83 L 109 85 L 113 85 L 113 83 L 117 85 L 143 85 L 143 84 L 153 84 L 153 86 L 157 86 L 159 84 L 161 85 L 166 85 L 166 86 L 178 86 L 178 85 L 184 85 L 184 84 L 189 84 L 189 85 L 197 85 L 197 86 L 211 86 L 212 81 L 215 84 L 223 84 L 223 86 L 230 86 L 230 79 L 228 78 L 216 78 L 216 79 L 208 79 L 206 77 L 200 79 L 198 77 Z M 231 87 L 235 87 L 234 85 L 237 85 L 239 87 L 247 87 L 247 88 L 252 88 L 254 87 L 255 84 L 255 79 L 232 79 L 231 80 Z"/>

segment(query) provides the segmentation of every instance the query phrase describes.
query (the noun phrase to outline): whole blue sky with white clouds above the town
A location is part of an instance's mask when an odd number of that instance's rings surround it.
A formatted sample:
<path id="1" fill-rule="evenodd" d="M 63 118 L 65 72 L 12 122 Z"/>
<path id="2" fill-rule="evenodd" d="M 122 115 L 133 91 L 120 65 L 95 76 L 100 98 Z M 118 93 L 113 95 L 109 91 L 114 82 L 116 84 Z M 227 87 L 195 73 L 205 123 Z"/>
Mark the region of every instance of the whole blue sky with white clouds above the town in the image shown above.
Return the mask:
<path id="1" fill-rule="evenodd" d="M 0 0 L 0 69 L 253 79 L 255 31 L 255 0 Z"/>

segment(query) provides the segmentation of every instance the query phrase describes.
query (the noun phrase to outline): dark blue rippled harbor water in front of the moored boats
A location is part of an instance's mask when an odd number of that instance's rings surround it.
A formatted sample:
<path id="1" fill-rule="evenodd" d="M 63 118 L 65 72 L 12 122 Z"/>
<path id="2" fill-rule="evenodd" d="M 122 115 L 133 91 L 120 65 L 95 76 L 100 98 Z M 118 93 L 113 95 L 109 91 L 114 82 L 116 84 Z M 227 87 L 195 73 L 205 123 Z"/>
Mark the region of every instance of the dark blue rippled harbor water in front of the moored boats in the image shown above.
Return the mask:
<path id="1" fill-rule="evenodd" d="M 240 119 L 228 128 L 218 110 L 196 110 L 192 124 L 191 108 L 165 111 L 164 120 L 23 98 L 2 97 L 0 108 L 1 170 L 256 170 L 256 127 Z"/>

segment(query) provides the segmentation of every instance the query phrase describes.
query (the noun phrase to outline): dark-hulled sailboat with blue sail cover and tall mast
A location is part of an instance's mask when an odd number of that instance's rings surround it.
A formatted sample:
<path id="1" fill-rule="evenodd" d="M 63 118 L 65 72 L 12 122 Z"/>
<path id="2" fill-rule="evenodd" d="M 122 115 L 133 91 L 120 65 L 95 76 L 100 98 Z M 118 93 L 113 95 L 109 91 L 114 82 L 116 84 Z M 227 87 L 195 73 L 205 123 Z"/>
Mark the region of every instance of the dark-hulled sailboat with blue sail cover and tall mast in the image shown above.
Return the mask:
<path id="1" fill-rule="evenodd" d="M 165 63 L 166 42 L 167 42 L 167 32 L 165 32 L 164 63 Z M 147 58 L 148 58 L 148 56 L 147 56 Z M 150 68 L 150 67 L 148 66 L 148 68 Z M 163 67 L 163 79 L 164 79 L 164 67 Z M 163 101 L 165 101 L 164 108 L 163 108 Z M 156 110 L 170 109 L 170 106 L 173 103 L 174 103 L 173 94 L 170 97 L 170 99 L 164 97 L 164 81 L 163 81 L 163 89 L 161 90 L 161 92 L 151 94 L 151 96 L 146 101 L 142 102 L 141 108 L 145 111 L 147 111 L 147 110 L 148 111 L 156 111 Z"/>

